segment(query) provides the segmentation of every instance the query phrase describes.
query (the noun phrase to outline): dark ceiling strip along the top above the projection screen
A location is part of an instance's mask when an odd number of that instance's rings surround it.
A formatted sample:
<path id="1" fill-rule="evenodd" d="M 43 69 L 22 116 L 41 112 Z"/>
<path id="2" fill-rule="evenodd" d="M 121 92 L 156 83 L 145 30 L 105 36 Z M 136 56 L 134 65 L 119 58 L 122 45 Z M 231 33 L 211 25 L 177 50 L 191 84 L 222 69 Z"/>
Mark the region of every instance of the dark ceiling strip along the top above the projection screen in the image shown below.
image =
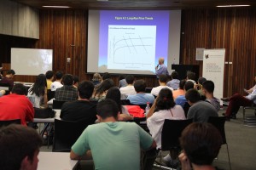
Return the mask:
<path id="1" fill-rule="evenodd" d="M 250 4 L 256 0 L 13 0 L 34 8 L 44 5 L 69 6 L 81 9 L 181 9 L 215 8 L 217 5 Z"/>

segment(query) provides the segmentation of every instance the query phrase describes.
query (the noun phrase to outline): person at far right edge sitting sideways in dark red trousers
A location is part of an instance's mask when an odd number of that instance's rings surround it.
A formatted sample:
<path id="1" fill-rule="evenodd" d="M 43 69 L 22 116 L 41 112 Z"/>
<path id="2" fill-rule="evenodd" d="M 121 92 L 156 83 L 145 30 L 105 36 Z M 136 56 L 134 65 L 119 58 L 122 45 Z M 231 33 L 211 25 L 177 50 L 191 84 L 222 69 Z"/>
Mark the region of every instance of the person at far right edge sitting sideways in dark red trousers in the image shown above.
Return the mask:
<path id="1" fill-rule="evenodd" d="M 254 77 L 256 82 L 256 76 Z M 256 86 L 256 85 L 255 85 Z M 255 86 L 249 90 L 246 90 L 249 93 L 247 96 L 242 96 L 241 94 L 234 94 L 230 98 L 222 98 L 223 101 L 230 101 L 228 108 L 224 114 L 227 121 L 230 121 L 230 118 L 236 118 L 236 113 L 239 110 L 240 106 L 251 106 L 256 104 L 256 88 Z"/>

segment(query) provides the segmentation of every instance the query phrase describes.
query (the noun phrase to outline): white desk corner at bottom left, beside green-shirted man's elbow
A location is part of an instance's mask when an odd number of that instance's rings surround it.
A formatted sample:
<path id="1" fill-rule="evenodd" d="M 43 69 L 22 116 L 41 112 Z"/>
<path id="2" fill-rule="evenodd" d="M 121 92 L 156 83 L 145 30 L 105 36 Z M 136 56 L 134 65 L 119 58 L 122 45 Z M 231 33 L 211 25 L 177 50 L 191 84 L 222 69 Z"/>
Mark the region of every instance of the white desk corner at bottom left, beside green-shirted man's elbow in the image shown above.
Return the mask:
<path id="1" fill-rule="evenodd" d="M 73 170 L 78 165 L 77 160 L 70 160 L 69 153 L 39 152 L 38 170 Z"/>

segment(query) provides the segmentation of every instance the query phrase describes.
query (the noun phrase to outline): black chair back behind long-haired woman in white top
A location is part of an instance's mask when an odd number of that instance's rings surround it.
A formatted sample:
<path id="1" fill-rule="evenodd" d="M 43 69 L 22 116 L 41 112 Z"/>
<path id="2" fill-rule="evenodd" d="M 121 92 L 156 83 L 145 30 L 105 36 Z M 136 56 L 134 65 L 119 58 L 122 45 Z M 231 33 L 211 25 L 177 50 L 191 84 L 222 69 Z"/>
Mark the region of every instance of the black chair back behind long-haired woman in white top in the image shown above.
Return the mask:
<path id="1" fill-rule="evenodd" d="M 183 129 L 187 127 L 193 120 L 169 120 L 166 119 L 162 129 L 161 135 L 161 150 L 179 149 L 179 137 Z"/>

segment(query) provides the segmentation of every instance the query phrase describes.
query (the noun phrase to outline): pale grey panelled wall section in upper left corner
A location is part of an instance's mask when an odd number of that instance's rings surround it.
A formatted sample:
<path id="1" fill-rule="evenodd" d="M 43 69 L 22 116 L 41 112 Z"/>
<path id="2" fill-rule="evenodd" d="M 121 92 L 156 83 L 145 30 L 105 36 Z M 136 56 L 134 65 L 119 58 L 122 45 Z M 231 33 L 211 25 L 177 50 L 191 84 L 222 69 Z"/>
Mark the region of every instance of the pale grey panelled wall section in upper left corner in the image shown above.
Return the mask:
<path id="1" fill-rule="evenodd" d="M 0 3 L 0 34 L 18 37 L 39 37 L 38 10 L 20 3 Z"/>

